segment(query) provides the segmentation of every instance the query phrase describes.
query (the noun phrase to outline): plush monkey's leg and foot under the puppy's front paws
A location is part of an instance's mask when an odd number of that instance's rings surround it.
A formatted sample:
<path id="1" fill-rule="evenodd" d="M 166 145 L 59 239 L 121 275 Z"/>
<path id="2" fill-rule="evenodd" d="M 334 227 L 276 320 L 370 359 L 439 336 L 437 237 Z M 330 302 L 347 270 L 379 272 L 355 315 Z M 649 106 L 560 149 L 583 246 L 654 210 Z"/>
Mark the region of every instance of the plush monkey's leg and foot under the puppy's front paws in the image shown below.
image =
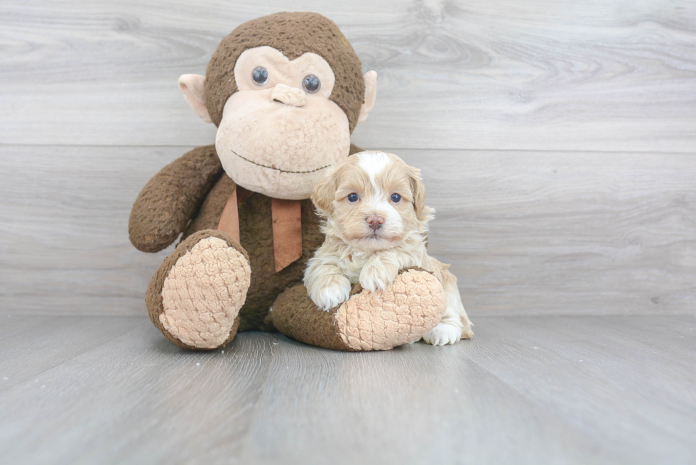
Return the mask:
<path id="1" fill-rule="evenodd" d="M 351 297 L 320 310 L 303 285 L 278 296 L 269 318 L 281 333 L 298 341 L 344 351 L 388 350 L 418 341 L 445 312 L 445 290 L 435 276 L 402 270 L 385 290 L 354 285 Z"/>

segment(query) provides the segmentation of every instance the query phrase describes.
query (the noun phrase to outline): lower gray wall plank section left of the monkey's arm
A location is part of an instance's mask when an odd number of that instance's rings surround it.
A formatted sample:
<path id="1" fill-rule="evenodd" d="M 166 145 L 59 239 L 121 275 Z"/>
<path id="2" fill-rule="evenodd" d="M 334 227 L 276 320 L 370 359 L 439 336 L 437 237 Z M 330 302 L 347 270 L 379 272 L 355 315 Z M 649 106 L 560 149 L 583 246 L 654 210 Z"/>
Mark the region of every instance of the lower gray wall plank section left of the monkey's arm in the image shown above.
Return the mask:
<path id="1" fill-rule="evenodd" d="M 130 209 L 149 177 L 186 150 L 0 147 L 4 310 L 145 314 L 147 285 L 173 247 L 136 251 Z"/>

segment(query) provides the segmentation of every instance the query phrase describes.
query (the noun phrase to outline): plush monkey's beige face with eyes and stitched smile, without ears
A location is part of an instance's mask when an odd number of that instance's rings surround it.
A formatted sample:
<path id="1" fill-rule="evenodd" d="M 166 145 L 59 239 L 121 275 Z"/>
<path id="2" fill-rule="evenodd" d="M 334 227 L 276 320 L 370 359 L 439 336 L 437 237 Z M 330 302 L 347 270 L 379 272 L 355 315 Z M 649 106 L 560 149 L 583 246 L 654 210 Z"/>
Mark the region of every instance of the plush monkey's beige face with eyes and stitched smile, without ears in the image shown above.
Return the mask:
<path id="1" fill-rule="evenodd" d="M 237 184 L 269 197 L 306 199 L 350 150 L 344 111 L 329 97 L 330 65 L 315 53 L 295 60 L 268 46 L 236 60 L 238 92 L 224 105 L 215 148 Z"/>

